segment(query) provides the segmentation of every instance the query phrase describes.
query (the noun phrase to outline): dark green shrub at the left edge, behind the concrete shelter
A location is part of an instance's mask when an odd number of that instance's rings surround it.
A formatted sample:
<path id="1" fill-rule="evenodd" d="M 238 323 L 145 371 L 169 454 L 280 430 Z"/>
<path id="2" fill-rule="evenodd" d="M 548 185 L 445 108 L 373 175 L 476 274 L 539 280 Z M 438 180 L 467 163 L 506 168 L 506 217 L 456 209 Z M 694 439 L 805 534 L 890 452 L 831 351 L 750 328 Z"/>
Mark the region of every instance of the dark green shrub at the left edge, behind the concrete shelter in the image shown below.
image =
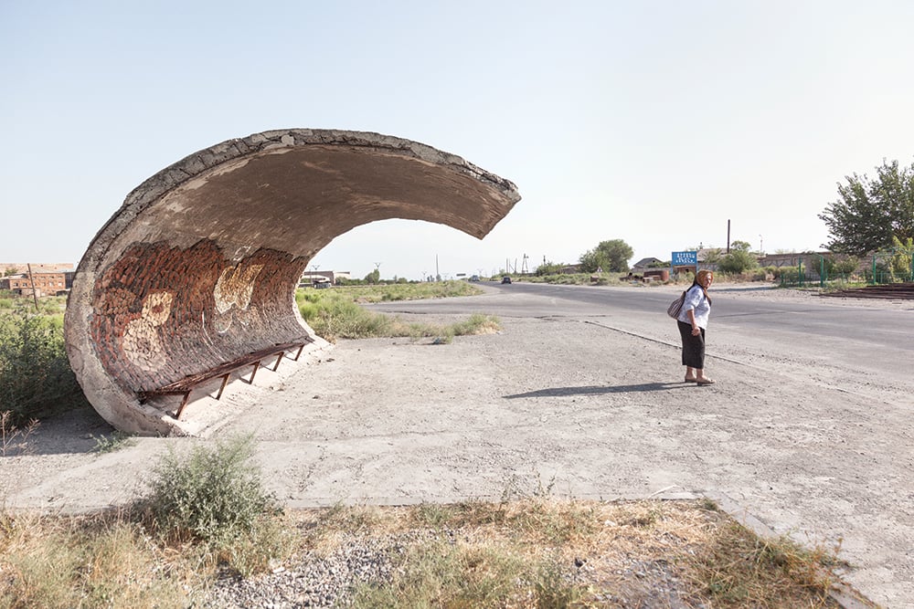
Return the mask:
<path id="1" fill-rule="evenodd" d="M 64 350 L 60 314 L 0 315 L 0 411 L 19 425 L 86 404 Z"/>

